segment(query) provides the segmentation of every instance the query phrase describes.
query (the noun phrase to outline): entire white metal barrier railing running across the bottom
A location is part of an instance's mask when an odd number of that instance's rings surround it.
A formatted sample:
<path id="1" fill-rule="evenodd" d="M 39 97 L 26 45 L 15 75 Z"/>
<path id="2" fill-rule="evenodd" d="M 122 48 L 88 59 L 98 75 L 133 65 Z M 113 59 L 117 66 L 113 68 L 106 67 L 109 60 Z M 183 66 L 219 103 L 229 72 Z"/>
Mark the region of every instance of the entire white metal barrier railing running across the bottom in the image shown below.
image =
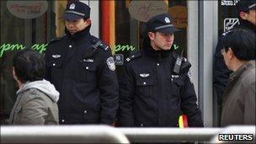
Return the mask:
<path id="1" fill-rule="evenodd" d="M 226 128 L 114 128 L 106 125 L 38 125 L 1 126 L 1 143 L 130 143 L 207 141 L 211 143 L 234 143 L 219 141 L 219 134 L 252 135 L 255 143 L 254 125 L 236 125 Z M 129 141 L 128 141 L 128 139 Z"/>

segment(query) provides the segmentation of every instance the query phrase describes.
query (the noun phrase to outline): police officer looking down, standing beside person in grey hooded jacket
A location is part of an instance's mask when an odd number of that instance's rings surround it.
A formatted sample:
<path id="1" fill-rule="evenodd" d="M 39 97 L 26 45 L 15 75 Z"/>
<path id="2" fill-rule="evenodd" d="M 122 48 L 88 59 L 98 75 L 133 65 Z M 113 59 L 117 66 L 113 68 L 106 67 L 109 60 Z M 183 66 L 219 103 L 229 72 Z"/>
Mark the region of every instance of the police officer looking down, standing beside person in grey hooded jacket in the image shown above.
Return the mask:
<path id="1" fill-rule="evenodd" d="M 60 124 L 113 124 L 119 86 L 108 45 L 90 35 L 90 8 L 67 4 L 66 35 L 45 52 L 46 79 L 60 92 Z"/>

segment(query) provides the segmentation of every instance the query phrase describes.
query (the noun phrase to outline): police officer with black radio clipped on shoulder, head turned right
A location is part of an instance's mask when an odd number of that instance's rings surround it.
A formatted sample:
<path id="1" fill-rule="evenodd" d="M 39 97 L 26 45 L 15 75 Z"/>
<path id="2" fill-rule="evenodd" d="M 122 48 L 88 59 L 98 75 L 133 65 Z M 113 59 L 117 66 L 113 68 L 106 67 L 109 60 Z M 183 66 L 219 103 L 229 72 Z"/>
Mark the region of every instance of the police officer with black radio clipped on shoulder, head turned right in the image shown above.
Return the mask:
<path id="1" fill-rule="evenodd" d="M 141 51 L 126 59 L 121 73 L 118 125 L 177 127 L 179 115 L 187 115 L 189 126 L 203 126 L 190 64 L 170 51 L 178 29 L 167 13 L 146 25 Z"/>

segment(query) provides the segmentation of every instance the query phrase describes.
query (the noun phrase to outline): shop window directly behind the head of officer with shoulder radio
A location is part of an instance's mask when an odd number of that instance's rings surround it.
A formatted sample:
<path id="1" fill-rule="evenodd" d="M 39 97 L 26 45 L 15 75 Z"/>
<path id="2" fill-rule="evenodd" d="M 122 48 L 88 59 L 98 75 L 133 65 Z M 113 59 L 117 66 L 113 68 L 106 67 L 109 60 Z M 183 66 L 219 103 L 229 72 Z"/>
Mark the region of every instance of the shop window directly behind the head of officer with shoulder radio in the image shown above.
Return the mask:
<path id="1" fill-rule="evenodd" d="M 133 7 L 133 8 L 131 8 Z M 135 11 L 135 12 L 134 12 Z M 116 1 L 115 2 L 115 54 L 124 59 L 138 51 L 143 29 L 148 18 L 157 13 L 169 13 L 180 32 L 175 33 L 172 50 L 187 56 L 187 0 L 180 1 Z M 120 67 L 117 67 L 119 72 Z"/>

